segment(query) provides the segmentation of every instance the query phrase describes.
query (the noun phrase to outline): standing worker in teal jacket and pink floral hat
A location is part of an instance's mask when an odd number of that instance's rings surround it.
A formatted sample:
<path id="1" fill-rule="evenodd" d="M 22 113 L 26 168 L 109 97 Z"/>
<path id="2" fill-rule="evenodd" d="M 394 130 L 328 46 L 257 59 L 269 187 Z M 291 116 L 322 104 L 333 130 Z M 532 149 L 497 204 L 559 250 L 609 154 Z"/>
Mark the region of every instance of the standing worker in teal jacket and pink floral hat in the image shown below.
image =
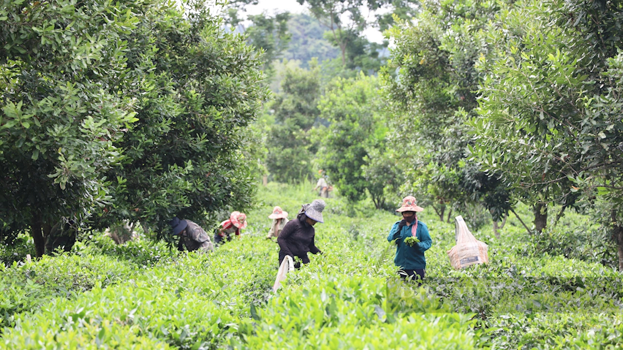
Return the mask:
<path id="1" fill-rule="evenodd" d="M 424 252 L 432 244 L 428 227 L 417 220 L 417 212 L 422 210 L 422 207 L 417 206 L 415 197 L 404 197 L 402 206 L 396 209 L 396 212 L 402 213 L 402 220 L 392 226 L 388 236 L 390 242 L 396 240 L 394 263 L 400 268 L 399 275 L 403 279 L 418 281 L 418 285 L 422 284 L 426 275 Z"/>

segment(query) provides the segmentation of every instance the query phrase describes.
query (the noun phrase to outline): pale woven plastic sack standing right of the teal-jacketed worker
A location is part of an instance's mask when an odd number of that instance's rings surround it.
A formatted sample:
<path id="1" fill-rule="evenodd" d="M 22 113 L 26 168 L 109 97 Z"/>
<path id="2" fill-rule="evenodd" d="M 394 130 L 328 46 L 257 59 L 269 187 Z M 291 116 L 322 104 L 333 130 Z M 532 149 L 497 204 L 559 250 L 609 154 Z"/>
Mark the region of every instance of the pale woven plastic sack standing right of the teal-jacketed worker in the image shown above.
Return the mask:
<path id="1" fill-rule="evenodd" d="M 488 263 L 487 244 L 473 237 L 472 232 L 467 229 L 462 216 L 459 215 L 455 219 L 455 240 L 457 245 L 448 250 L 450 265 L 460 270 L 477 263 Z"/>

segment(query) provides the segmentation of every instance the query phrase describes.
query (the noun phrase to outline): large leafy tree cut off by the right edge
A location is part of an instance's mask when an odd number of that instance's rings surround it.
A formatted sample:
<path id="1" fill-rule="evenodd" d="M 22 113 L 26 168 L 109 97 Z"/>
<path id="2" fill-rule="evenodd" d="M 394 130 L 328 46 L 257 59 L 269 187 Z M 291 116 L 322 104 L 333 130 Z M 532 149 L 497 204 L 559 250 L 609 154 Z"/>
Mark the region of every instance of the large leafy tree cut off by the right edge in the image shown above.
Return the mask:
<path id="1" fill-rule="evenodd" d="M 606 201 L 599 217 L 619 243 L 621 270 L 622 25 L 618 1 L 526 1 L 501 12 L 472 123 L 474 157 L 544 204 Z"/>

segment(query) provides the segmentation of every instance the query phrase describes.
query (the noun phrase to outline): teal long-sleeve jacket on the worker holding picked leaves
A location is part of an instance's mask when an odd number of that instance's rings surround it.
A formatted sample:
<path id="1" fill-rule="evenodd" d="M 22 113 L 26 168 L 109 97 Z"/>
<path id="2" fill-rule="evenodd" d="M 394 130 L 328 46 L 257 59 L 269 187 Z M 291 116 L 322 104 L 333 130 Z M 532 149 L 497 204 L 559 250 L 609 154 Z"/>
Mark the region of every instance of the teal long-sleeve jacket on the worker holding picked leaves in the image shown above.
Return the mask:
<path id="1" fill-rule="evenodd" d="M 396 239 L 396 257 L 394 263 L 396 266 L 404 268 L 406 270 L 418 270 L 426 268 L 426 258 L 424 258 L 424 252 L 432 245 L 432 239 L 428 232 L 428 227 L 424 222 L 417 221 L 416 237 L 420 240 L 409 247 L 404 243 L 404 239 L 411 237 L 411 228 L 415 223 L 411 222 L 411 225 L 405 225 L 401 229 L 398 229 L 400 221 L 396 221 L 389 230 L 388 241 Z"/>

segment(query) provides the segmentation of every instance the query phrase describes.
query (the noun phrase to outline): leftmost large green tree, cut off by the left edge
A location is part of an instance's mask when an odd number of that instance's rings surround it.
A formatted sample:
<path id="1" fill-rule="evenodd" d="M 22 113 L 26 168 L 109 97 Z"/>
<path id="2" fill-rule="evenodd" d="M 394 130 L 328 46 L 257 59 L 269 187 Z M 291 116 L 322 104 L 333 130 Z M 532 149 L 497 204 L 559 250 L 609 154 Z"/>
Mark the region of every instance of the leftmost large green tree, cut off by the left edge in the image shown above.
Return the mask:
<path id="1" fill-rule="evenodd" d="M 120 161 L 135 121 L 124 39 L 153 3 L 2 1 L 0 233 L 29 230 L 37 255 L 64 218 L 110 201 L 101 174 Z M 135 88 L 145 88 L 135 80 Z"/>

